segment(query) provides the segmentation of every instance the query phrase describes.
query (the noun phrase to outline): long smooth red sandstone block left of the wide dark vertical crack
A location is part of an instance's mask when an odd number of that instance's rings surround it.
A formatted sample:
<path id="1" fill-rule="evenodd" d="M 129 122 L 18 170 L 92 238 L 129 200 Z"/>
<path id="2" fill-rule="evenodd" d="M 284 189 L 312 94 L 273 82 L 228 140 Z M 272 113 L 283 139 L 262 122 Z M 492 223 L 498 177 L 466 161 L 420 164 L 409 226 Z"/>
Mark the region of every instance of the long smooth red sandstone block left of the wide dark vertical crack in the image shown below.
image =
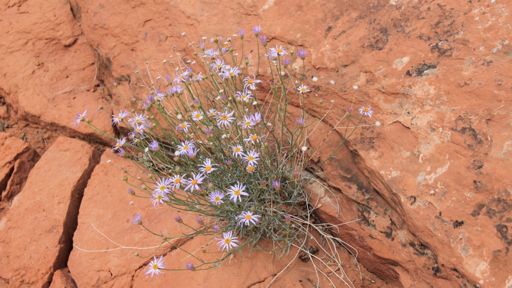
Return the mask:
<path id="1" fill-rule="evenodd" d="M 47 287 L 66 265 L 83 189 L 98 158 L 87 143 L 59 137 L 36 163 L 0 219 L 0 277 L 10 287 Z"/>

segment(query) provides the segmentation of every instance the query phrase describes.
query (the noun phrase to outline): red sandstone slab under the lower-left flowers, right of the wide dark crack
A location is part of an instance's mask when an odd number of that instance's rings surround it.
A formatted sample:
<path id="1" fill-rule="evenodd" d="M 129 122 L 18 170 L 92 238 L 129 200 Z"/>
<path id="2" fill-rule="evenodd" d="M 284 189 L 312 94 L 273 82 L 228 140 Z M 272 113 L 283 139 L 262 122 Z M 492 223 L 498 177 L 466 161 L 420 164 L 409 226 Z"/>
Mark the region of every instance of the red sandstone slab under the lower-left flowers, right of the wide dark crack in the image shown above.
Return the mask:
<path id="1" fill-rule="evenodd" d="M 108 163 L 107 160 L 112 162 Z M 185 227 L 179 228 L 174 221 L 177 214 L 174 209 L 155 209 L 148 199 L 127 193 L 130 186 L 121 180 L 126 176 L 121 167 L 135 171 L 135 174 L 140 171 L 130 160 L 105 151 L 84 191 L 78 227 L 73 237 L 77 247 L 73 248 L 68 261 L 73 279 L 79 287 L 129 286 L 137 269 L 147 261 L 146 258 L 135 257 L 135 252 L 142 256 L 154 250 L 133 248 L 158 246 L 161 243 L 160 237 L 145 231 L 140 225 L 133 224 L 133 215 L 140 214 L 144 225 L 159 233 L 168 232 L 176 236 L 185 232 Z M 133 179 L 130 181 L 133 182 Z M 136 180 L 134 184 L 138 184 Z M 109 241 L 95 228 L 112 241 L 130 248 L 119 249 L 120 245 Z M 176 240 L 177 244 L 182 241 Z M 84 252 L 78 248 L 112 251 Z M 169 250 L 170 246 L 164 245 L 157 253 L 167 253 Z"/>

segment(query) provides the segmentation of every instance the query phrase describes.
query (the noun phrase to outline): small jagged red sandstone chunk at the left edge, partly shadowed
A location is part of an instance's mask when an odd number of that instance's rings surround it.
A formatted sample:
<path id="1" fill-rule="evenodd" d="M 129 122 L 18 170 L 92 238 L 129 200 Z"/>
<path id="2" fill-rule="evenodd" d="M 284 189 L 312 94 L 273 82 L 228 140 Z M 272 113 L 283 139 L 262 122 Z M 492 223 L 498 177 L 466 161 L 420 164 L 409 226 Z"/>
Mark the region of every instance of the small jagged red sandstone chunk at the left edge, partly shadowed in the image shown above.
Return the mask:
<path id="1" fill-rule="evenodd" d="M 7 202 L 21 191 L 39 154 L 23 140 L 6 133 L 0 137 L 0 193 Z"/>

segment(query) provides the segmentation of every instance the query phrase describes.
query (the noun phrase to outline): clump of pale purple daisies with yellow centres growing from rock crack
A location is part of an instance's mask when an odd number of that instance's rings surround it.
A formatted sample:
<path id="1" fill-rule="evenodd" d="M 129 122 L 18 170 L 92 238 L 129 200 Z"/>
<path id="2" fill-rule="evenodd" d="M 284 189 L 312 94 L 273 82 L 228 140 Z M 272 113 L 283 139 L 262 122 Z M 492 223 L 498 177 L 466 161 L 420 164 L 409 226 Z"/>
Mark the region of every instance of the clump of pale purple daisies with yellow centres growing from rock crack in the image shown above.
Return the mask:
<path id="1" fill-rule="evenodd" d="M 147 198 L 154 207 L 188 214 L 184 218 L 177 214 L 174 220 L 190 228 L 190 233 L 176 237 L 152 233 L 168 241 L 222 232 L 215 239 L 225 255 L 212 262 L 193 255 L 201 263 L 188 262 L 185 269 L 189 271 L 220 265 L 244 247 L 255 249 L 260 239 L 274 241 L 273 252 L 283 256 L 309 235 L 303 224 L 315 227 L 308 222 L 311 210 L 304 185 L 332 155 L 312 162 L 315 149 L 320 148 L 307 147 L 307 136 L 330 108 L 325 112 L 324 98 L 311 93 L 315 86 L 305 82 L 305 70 L 301 74 L 292 69 L 296 61 L 305 67 L 307 51 L 293 53 L 289 47 L 270 45 L 273 40 L 260 35 L 261 31 L 260 26 L 252 28 L 259 40 L 253 58 L 241 49 L 244 30 L 238 31 L 239 39 L 227 38 L 224 43 L 219 35 L 209 42 L 203 37 L 197 49 L 189 45 L 196 60 L 182 59 L 170 69 L 173 75 L 153 78 L 143 99 L 124 101 L 122 109 L 112 103 L 116 109 L 109 113 L 112 125 L 129 131 L 113 139 L 112 150 L 132 160 L 148 178 L 123 171 L 127 175 L 123 180 L 132 186 L 128 193 Z M 261 69 L 262 63 L 268 67 Z M 301 108 L 300 115 L 289 114 L 291 104 Z M 328 104 L 332 108 L 332 101 Z M 359 112 L 355 127 L 373 113 L 370 106 Z M 73 124 L 84 121 L 99 132 L 86 115 L 87 110 L 78 114 Z M 347 130 L 353 121 L 351 110 L 345 117 L 345 136 L 333 154 L 355 130 Z M 147 229 L 139 214 L 132 222 Z M 154 256 L 146 277 L 163 273 L 163 262 L 162 256 Z"/>

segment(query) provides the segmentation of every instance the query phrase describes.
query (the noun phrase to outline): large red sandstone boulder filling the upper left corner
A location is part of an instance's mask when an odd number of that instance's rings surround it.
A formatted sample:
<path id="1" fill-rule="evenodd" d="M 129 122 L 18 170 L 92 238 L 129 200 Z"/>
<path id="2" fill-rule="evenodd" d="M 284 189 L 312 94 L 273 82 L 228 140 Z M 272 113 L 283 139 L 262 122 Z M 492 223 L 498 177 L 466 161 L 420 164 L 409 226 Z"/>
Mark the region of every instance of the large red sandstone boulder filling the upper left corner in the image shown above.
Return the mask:
<path id="1" fill-rule="evenodd" d="M 110 115 L 95 113 L 101 105 L 111 111 L 101 91 L 96 91 L 96 58 L 63 0 L 4 2 L 0 30 L 0 87 L 18 119 L 60 130 L 68 136 L 104 140 L 83 123 L 71 125 L 76 113 L 114 135 Z M 31 15 L 25 17 L 23 15 Z M 25 69 L 20 70 L 20 67 Z M 97 76 L 96 76 L 97 77 Z M 41 89 L 44 87 L 44 89 Z M 93 116 L 94 115 L 94 116 Z"/>

